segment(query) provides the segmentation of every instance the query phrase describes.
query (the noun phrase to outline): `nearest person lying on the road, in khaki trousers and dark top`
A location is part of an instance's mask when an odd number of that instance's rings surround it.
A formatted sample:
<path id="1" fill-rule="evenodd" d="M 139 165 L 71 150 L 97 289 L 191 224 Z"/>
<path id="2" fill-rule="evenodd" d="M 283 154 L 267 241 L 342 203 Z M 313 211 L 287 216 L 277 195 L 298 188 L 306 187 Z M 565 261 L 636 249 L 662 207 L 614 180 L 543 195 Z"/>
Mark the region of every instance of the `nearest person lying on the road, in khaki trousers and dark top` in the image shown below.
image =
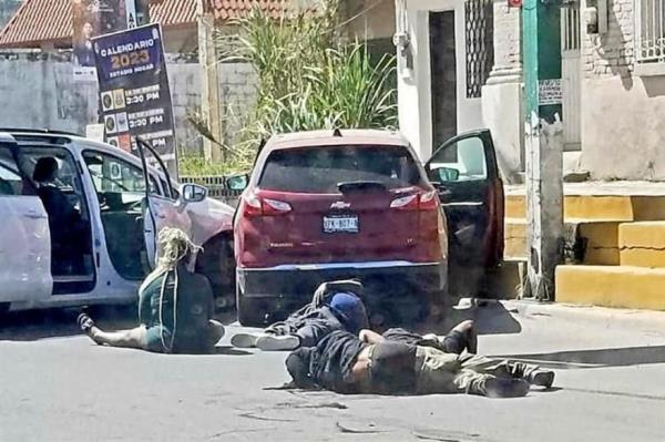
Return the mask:
<path id="1" fill-rule="evenodd" d="M 366 343 L 347 331 L 334 331 L 316 347 L 293 351 L 286 368 L 291 387 L 344 394 L 512 398 L 525 395 L 531 384 L 550 388 L 554 381 L 554 372 L 536 366 L 390 340 Z"/>

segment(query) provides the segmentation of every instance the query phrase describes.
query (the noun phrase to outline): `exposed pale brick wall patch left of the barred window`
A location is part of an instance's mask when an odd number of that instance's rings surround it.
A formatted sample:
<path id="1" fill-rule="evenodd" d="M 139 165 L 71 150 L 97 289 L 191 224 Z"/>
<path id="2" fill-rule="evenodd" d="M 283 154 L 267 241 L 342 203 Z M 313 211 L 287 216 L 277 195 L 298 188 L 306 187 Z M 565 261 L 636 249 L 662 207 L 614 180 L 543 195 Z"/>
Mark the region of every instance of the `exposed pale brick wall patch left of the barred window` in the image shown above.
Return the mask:
<path id="1" fill-rule="evenodd" d="M 582 18 L 581 49 L 584 76 L 631 76 L 634 28 L 634 0 L 608 0 L 605 34 L 587 34 Z"/>

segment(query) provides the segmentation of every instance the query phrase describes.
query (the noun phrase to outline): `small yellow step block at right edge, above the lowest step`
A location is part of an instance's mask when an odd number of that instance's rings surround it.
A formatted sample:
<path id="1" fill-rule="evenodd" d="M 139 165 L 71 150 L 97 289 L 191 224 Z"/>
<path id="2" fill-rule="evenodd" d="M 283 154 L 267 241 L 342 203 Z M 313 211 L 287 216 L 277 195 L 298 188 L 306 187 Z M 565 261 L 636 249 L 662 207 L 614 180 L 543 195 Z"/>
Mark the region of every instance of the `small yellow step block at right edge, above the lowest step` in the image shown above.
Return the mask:
<path id="1" fill-rule="evenodd" d="M 622 224 L 618 247 L 622 266 L 665 268 L 665 222 Z"/>

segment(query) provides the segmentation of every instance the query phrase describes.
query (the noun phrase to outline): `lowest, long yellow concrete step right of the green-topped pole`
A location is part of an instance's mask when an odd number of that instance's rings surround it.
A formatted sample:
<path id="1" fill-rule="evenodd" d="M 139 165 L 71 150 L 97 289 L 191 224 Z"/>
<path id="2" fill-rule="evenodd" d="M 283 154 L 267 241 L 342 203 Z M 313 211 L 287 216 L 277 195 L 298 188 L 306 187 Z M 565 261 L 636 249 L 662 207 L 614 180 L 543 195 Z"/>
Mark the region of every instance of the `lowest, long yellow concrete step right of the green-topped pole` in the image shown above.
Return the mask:
<path id="1" fill-rule="evenodd" d="M 665 310 L 665 268 L 556 267 L 556 302 Z"/>

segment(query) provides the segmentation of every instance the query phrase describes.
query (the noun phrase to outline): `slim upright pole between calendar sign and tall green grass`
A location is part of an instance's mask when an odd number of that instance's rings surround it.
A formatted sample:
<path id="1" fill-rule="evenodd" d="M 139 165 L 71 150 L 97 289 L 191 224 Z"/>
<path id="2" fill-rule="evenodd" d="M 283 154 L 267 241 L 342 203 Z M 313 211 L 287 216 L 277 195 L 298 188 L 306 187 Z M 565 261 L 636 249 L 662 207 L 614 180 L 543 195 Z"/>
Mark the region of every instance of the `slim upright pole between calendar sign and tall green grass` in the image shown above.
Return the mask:
<path id="1" fill-rule="evenodd" d="M 196 0 L 198 24 L 198 64 L 202 68 L 201 116 L 213 137 L 224 143 L 222 109 L 219 103 L 219 76 L 215 44 L 215 18 L 206 10 L 204 0 Z M 221 161 L 222 148 L 211 140 L 203 138 L 203 154 L 207 161 Z"/>

